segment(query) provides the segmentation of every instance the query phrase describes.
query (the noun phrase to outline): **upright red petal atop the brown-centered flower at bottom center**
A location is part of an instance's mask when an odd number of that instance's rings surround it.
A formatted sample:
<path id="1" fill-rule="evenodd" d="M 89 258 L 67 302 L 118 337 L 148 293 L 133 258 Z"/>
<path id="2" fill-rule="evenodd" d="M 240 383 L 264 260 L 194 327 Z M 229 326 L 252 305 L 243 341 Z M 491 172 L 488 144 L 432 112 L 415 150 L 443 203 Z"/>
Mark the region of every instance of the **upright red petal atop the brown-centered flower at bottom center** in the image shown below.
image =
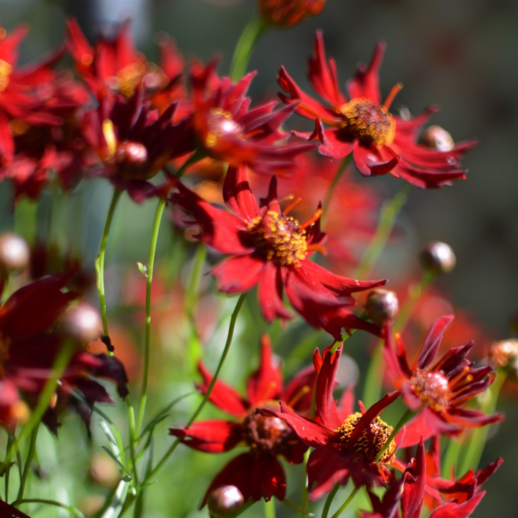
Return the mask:
<path id="1" fill-rule="evenodd" d="M 251 406 L 269 399 L 278 399 L 282 391 L 282 374 L 278 363 L 274 365 L 269 337 L 261 336 L 261 363 L 247 383 L 248 401 Z"/>

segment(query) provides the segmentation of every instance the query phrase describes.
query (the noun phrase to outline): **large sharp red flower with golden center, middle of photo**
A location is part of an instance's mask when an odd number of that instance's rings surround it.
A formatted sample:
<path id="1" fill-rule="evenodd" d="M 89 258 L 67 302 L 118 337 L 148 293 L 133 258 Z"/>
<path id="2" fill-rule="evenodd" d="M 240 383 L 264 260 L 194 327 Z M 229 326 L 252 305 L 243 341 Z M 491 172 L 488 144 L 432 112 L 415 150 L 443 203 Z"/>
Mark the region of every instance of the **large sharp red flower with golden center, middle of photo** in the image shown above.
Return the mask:
<path id="1" fill-rule="evenodd" d="M 378 327 L 358 318 L 349 308 L 356 304 L 353 293 L 383 285 L 385 280 L 336 276 L 309 259 L 314 251 L 322 250 L 325 237 L 318 224 L 320 208 L 304 223 L 287 215 L 289 207 L 280 209 L 275 177 L 267 198 L 258 204 L 246 167 L 229 168 L 224 180 L 224 201 L 233 213 L 213 207 L 180 182 L 176 189 L 173 201 L 200 225 L 199 239 L 233 256 L 212 271 L 220 291 L 236 294 L 257 286 L 267 322 L 291 318 L 282 303 L 285 293 L 307 323 L 325 329 L 336 340 L 344 328 L 379 333 Z"/>

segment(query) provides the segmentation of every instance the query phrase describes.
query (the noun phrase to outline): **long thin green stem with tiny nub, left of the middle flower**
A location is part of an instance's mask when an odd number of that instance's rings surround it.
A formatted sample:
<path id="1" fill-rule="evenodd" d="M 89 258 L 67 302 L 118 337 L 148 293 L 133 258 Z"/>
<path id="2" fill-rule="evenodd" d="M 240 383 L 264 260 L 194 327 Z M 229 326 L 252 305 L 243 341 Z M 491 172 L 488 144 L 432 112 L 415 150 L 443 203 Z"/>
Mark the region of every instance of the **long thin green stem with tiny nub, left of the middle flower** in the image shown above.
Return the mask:
<path id="1" fill-rule="evenodd" d="M 146 323 L 144 332 L 144 377 L 142 379 L 142 391 L 140 392 L 140 404 L 137 416 L 136 436 L 140 434 L 142 421 L 144 420 L 144 411 L 146 410 L 148 381 L 149 381 L 149 345 L 151 342 L 151 283 L 153 282 L 153 271 L 155 269 L 155 253 L 157 250 L 158 233 L 160 231 L 160 222 L 164 208 L 166 207 L 166 199 L 162 198 L 157 205 L 155 212 L 155 220 L 153 222 L 153 230 L 151 232 L 151 242 L 149 244 L 148 265 L 146 271 Z M 135 437 L 136 437 L 135 436 Z"/>

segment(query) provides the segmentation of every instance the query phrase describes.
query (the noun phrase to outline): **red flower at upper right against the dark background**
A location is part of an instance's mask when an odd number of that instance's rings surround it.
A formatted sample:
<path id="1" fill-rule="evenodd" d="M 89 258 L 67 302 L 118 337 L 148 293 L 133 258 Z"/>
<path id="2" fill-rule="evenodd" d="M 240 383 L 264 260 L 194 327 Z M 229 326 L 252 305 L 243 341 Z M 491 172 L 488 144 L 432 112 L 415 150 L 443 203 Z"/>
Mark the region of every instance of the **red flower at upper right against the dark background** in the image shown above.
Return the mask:
<path id="1" fill-rule="evenodd" d="M 378 70 L 384 50 L 384 44 L 376 46 L 369 66 L 358 67 L 345 95 L 340 90 L 336 63 L 327 60 L 318 32 L 314 55 L 309 59 L 309 82 L 323 102 L 304 93 L 283 67 L 278 82 L 287 95 L 280 97 L 285 102 L 298 102 L 297 113 L 316 120 L 314 133 L 306 136 L 318 137 L 320 153 L 334 158 L 352 153 L 356 169 L 364 176 L 391 173 L 419 187 L 441 187 L 465 178 L 459 159 L 476 142 L 462 142 L 448 151 L 419 144 L 421 128 L 437 108 L 432 106 L 410 119 L 389 112 L 402 86 L 396 84 L 382 100 Z"/>

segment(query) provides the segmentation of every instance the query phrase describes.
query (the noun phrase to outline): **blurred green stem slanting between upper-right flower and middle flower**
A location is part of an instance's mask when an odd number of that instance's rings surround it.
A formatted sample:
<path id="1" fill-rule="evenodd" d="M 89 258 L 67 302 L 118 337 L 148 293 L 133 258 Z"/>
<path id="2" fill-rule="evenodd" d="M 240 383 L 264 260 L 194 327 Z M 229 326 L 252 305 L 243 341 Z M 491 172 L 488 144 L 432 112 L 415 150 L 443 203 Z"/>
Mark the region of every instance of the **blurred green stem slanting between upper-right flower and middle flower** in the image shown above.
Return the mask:
<path id="1" fill-rule="evenodd" d="M 374 237 L 367 247 L 361 265 L 354 274 L 355 279 L 364 278 L 367 276 L 372 267 L 376 264 L 381 252 L 387 244 L 387 240 L 390 237 L 390 233 L 394 228 L 394 223 L 398 217 L 401 209 L 407 201 L 407 193 L 410 190 L 410 184 L 406 184 L 399 193 L 397 193 L 392 200 L 389 200 L 383 204 L 380 211 L 379 223 Z"/>

